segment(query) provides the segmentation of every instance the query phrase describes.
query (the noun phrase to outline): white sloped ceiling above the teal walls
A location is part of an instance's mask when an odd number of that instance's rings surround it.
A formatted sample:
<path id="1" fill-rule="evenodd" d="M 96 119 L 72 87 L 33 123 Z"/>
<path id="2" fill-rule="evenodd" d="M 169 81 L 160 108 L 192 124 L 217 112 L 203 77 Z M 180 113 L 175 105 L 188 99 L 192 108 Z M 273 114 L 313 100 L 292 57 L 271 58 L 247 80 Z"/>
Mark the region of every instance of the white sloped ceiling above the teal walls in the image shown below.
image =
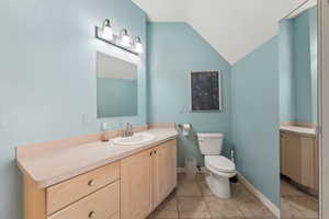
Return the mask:
<path id="1" fill-rule="evenodd" d="M 152 22 L 186 22 L 231 65 L 277 34 L 305 0 L 133 0 Z"/>

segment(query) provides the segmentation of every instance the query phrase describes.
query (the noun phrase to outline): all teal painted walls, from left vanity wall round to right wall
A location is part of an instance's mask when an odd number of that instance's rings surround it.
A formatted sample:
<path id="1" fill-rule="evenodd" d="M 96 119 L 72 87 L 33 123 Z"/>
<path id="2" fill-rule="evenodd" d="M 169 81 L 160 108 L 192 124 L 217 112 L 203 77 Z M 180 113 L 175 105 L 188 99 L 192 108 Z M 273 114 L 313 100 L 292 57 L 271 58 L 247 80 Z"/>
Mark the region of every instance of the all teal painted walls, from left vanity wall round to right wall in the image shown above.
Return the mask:
<path id="1" fill-rule="evenodd" d="M 148 76 L 146 54 L 139 60 L 138 116 L 97 119 L 97 51 L 132 58 L 94 38 L 105 18 L 115 32 L 127 27 L 149 45 Z M 231 69 L 184 23 L 150 23 L 147 32 L 146 14 L 131 0 L 3 0 L 0 24 L 0 218 L 22 218 L 16 146 L 97 132 L 101 122 L 112 128 L 191 123 L 195 132 L 220 131 L 226 154 L 237 150 L 238 170 L 279 205 L 277 38 Z M 191 70 L 223 71 L 223 112 L 189 112 Z M 180 137 L 179 165 L 191 155 L 203 164 L 195 136 Z"/>

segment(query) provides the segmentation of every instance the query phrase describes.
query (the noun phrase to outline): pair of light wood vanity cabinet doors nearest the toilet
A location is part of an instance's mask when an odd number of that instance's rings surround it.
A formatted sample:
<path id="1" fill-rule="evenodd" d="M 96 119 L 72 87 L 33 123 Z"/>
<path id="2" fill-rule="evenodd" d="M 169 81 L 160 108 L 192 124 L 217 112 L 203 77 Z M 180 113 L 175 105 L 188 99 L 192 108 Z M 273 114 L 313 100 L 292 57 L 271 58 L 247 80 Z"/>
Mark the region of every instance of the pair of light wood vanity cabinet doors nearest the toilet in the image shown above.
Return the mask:
<path id="1" fill-rule="evenodd" d="M 177 142 L 122 160 L 121 219 L 145 219 L 177 186 Z"/>

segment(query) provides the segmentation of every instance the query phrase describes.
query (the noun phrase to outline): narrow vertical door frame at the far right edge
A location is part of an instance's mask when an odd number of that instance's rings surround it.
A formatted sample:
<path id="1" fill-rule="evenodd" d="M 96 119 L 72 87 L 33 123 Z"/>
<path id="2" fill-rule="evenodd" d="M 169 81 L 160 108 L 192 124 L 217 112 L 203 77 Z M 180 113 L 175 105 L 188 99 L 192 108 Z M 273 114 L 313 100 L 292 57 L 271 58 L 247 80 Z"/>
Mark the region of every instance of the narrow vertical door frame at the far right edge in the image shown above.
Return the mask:
<path id="1" fill-rule="evenodd" d="M 318 130 L 319 130 L 319 208 L 320 218 L 329 218 L 329 0 L 318 0 Z M 326 208 L 327 206 L 327 208 Z"/>

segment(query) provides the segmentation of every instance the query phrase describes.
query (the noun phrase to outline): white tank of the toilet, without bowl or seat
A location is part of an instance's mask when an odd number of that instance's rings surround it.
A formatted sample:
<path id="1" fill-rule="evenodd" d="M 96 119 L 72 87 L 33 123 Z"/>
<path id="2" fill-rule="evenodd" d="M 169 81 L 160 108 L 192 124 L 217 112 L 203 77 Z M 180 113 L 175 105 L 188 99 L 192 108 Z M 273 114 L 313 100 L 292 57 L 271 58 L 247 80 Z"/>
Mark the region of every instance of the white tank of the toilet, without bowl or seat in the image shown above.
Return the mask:
<path id="1" fill-rule="evenodd" d="M 197 134 L 198 148 L 204 155 L 219 155 L 223 149 L 224 135 L 219 132 Z"/>

